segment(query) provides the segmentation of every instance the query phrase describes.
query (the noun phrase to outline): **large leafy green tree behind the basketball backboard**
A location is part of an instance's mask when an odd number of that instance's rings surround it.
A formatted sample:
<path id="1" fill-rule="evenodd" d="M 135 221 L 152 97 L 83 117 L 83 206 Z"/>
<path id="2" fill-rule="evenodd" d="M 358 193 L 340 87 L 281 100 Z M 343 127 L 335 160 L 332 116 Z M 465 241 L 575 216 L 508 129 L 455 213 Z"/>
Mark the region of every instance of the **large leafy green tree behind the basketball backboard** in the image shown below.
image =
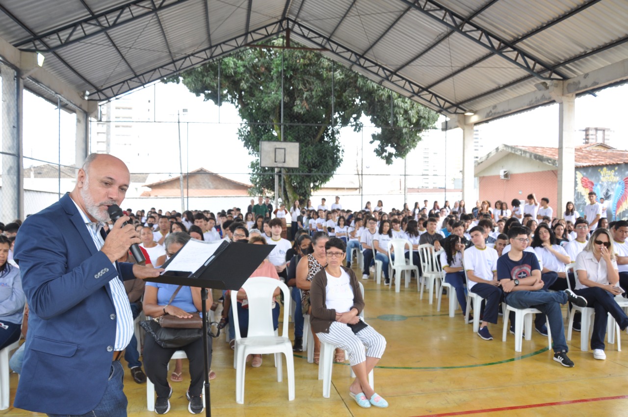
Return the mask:
<path id="1" fill-rule="evenodd" d="M 283 38 L 270 45 L 283 45 Z M 414 149 L 421 132 L 438 118 L 430 109 L 334 64 L 316 51 L 248 48 L 166 79 L 182 82 L 190 92 L 215 104 L 236 106 L 245 121 L 238 131 L 239 139 L 258 157 L 250 166 L 254 193 L 274 190 L 274 168 L 259 166 L 259 142 L 282 139 L 282 61 L 283 141 L 300 143 L 300 168 L 284 171 L 287 205 L 296 198 L 309 198 L 332 177 L 343 157 L 338 131 L 345 126 L 360 131 L 362 114 L 381 127 L 379 133 L 372 134 L 371 144 L 376 143 L 375 153 L 389 165 Z"/>

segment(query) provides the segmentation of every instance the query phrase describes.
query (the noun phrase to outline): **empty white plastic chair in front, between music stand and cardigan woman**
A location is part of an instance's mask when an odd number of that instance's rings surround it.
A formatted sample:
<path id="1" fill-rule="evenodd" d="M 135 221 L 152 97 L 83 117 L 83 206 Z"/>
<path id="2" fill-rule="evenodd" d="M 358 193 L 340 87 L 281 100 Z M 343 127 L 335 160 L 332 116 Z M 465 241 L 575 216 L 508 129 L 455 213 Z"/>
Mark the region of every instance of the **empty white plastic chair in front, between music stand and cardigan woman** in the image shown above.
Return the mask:
<path id="1" fill-rule="evenodd" d="M 292 352 L 292 342 L 288 338 L 288 310 L 283 309 L 283 323 L 281 336 L 276 336 L 273 327 L 273 310 L 271 298 L 274 290 L 279 287 L 283 292 L 284 300 L 290 297 L 290 290 L 286 284 L 278 279 L 255 277 L 248 279 L 242 286 L 249 301 L 249 329 L 247 337 L 241 337 L 239 318 L 237 315 L 237 291 L 231 291 L 231 306 L 236 329 L 236 402 L 244 404 L 244 374 L 246 371 L 245 358 L 249 354 L 274 354 L 277 367 L 277 382 L 281 382 L 283 369 L 281 354 L 286 356 L 288 368 L 288 400 L 295 399 L 295 364 Z"/>

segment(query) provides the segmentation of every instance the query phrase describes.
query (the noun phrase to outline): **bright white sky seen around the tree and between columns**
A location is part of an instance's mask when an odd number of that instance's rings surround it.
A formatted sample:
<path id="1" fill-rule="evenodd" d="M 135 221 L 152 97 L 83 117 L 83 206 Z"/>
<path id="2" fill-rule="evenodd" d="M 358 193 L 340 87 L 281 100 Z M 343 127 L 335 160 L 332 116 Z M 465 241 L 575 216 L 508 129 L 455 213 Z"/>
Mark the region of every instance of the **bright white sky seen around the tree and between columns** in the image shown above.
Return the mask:
<path id="1" fill-rule="evenodd" d="M 628 96 L 628 85 L 611 87 L 597 92 L 597 97 L 585 95 L 576 99 L 576 137 L 582 143 L 583 133 L 578 132 L 587 126 L 610 127 L 612 129 L 612 146 L 628 149 L 628 128 L 623 114 L 625 97 Z M 144 103 L 153 108 L 157 121 L 145 137 L 139 137 L 133 146 L 138 153 L 148 155 L 143 166 L 130 167 L 133 172 L 178 172 L 178 146 L 176 130 L 176 113 L 187 109 L 187 115 L 181 117 L 183 124 L 189 122 L 188 129 L 181 127 L 181 148 L 183 169 L 195 170 L 200 167 L 221 173 L 238 181 L 248 182 L 248 166 L 252 160 L 247 149 L 237 139 L 237 128 L 240 119 L 233 106 L 225 104 L 220 108 L 212 102 L 196 97 L 183 85 L 155 84 L 144 87 L 127 98 L 134 102 Z M 151 100 L 150 104 L 148 100 Z M 59 124 L 58 121 L 61 121 Z M 443 121 L 441 117 L 437 126 Z M 366 170 L 399 174 L 404 171 L 403 160 L 396 161 L 392 166 L 379 160 L 374 153 L 374 146 L 369 144 L 370 134 L 374 127 L 369 126 L 368 119 L 363 119 L 365 128 L 355 133 L 351 128 L 341 132 L 344 146 L 344 163 L 337 171 L 337 176 L 355 173 L 356 163 L 364 165 Z M 61 129 L 58 129 L 61 126 Z M 526 146 L 558 146 L 558 105 L 539 107 L 533 111 L 504 117 L 497 121 L 477 126 L 482 138 L 483 151 L 488 153 L 501 143 Z M 24 94 L 24 156 L 40 160 L 56 162 L 59 158 L 59 136 L 62 138 L 61 161 L 72 165 L 74 162 L 75 116 L 67 112 L 58 112 L 56 106 L 26 92 Z M 144 136 L 144 135 L 140 135 Z M 453 129 L 447 133 L 431 131 L 424 135 L 424 141 L 440 146 L 447 139 L 449 145 L 462 144 L 462 131 Z M 136 142 L 136 143 L 135 143 Z M 362 153 L 364 147 L 364 160 Z M 408 160 L 418 158 L 416 151 L 409 154 Z M 155 163 L 159 161 L 159 163 Z M 29 161 L 24 163 L 29 166 Z M 33 165 L 40 162 L 32 161 Z M 419 164 L 409 163 L 408 173 L 420 174 Z M 365 171 L 366 171 L 365 170 Z"/>

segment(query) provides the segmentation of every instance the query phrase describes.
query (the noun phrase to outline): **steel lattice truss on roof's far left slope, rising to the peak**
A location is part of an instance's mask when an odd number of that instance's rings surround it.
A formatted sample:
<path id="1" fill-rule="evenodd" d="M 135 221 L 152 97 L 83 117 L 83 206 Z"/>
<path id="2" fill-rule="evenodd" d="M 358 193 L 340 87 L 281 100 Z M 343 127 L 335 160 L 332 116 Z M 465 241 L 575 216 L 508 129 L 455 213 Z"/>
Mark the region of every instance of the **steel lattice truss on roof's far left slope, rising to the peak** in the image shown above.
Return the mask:
<path id="1" fill-rule="evenodd" d="M 274 36 L 278 36 L 284 30 L 286 30 L 286 21 L 277 21 L 261 28 L 252 30 L 248 35 L 249 41 L 261 42 Z M 231 38 L 230 40 L 222 43 L 209 46 L 202 50 L 196 51 L 185 57 L 175 58 L 174 62 L 168 62 L 160 67 L 153 68 L 144 73 L 138 74 L 136 77 L 116 82 L 112 85 L 107 85 L 100 89 L 90 92 L 89 99 L 104 101 L 112 99 L 117 95 L 123 94 L 130 90 L 138 89 L 149 82 L 153 82 L 165 77 L 170 77 L 185 70 L 189 70 L 203 63 L 210 62 L 216 58 L 224 57 L 234 51 L 247 45 L 246 35 L 242 34 Z"/>

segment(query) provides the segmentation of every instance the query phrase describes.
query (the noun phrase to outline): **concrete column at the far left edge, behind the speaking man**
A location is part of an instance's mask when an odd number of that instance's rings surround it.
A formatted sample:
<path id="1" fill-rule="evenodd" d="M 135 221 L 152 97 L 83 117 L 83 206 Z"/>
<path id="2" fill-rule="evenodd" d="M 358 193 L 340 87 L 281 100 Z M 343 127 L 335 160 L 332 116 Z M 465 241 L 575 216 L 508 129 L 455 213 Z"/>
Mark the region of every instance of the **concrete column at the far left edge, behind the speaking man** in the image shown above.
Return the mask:
<path id="1" fill-rule="evenodd" d="M 2 77 L 2 199 L 0 221 L 24 219 L 22 178 L 23 82 L 11 67 L 0 63 Z"/>

